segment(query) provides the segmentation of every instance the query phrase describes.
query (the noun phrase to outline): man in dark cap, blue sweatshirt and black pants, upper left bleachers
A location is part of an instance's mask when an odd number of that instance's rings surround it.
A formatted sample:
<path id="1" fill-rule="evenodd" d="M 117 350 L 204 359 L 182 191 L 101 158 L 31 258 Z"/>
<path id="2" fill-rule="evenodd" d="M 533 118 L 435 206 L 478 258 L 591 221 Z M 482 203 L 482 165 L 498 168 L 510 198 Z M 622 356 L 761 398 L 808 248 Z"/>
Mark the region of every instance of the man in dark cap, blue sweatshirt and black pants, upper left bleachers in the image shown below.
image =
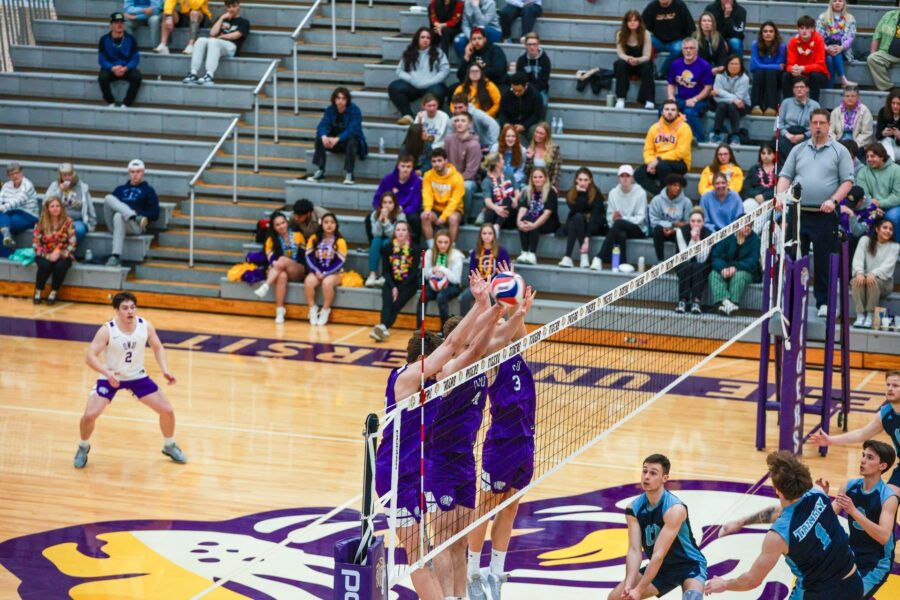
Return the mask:
<path id="1" fill-rule="evenodd" d="M 125 33 L 125 15 L 113 13 L 109 16 L 109 33 L 100 38 L 97 48 L 97 62 L 100 74 L 97 82 L 103 101 L 110 107 L 131 106 L 141 89 L 141 71 L 137 68 L 141 61 L 137 48 L 137 40 Z M 128 82 L 128 91 L 122 103 L 116 103 L 112 95 L 112 82 L 122 80 Z"/>

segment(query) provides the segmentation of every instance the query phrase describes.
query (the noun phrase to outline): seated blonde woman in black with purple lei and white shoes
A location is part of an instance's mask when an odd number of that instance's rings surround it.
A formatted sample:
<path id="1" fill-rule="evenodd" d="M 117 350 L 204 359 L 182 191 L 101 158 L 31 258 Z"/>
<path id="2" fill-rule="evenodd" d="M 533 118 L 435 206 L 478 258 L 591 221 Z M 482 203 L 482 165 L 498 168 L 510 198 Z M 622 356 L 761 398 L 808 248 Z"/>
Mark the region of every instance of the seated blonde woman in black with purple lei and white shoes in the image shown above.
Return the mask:
<path id="1" fill-rule="evenodd" d="M 559 218 L 556 215 L 558 204 L 556 190 L 550 185 L 547 170 L 544 167 L 532 169 L 528 185 L 522 190 L 519 214 L 516 217 L 519 242 L 522 245 L 522 253 L 516 262 L 523 265 L 537 264 L 537 247 L 541 235 L 559 229 Z"/>

